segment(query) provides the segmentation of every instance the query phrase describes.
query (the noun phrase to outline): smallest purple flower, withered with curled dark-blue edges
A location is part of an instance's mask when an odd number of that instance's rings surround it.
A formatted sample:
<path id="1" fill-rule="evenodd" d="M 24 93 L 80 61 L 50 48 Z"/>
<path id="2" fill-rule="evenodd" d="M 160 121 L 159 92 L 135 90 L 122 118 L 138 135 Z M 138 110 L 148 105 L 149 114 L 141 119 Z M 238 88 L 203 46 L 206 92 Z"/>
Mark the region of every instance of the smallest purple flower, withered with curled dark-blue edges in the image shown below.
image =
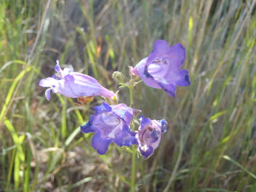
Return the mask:
<path id="1" fill-rule="evenodd" d="M 150 118 L 140 117 L 140 127 L 136 138 L 139 142 L 138 151 L 144 158 L 153 155 L 154 150 L 161 141 L 161 135 L 166 131 L 167 122 L 151 120 Z"/>

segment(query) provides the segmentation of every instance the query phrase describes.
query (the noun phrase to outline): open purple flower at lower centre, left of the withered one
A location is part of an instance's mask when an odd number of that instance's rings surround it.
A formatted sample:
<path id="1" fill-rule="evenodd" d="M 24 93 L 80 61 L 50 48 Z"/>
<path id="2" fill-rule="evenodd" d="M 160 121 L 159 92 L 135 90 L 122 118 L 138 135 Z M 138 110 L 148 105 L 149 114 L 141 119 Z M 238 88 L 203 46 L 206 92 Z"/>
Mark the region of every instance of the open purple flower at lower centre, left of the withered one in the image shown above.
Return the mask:
<path id="1" fill-rule="evenodd" d="M 106 154 L 111 142 L 119 147 L 138 145 L 136 133 L 129 126 L 138 110 L 127 107 L 123 103 L 109 106 L 105 102 L 94 107 L 94 110 L 94 115 L 91 115 L 87 124 L 81 126 L 81 131 L 95 133 L 91 145 L 98 154 Z"/>

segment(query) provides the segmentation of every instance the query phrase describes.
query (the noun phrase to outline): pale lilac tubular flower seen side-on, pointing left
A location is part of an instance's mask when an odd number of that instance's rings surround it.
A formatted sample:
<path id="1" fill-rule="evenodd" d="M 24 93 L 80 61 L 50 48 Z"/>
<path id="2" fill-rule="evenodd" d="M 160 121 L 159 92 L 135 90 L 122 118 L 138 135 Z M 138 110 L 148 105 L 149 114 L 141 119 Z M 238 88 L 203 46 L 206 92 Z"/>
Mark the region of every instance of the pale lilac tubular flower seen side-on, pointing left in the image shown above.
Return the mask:
<path id="1" fill-rule="evenodd" d="M 62 70 L 58 60 L 55 71 L 57 71 L 56 75 L 39 82 L 39 86 L 50 87 L 45 91 L 47 100 L 51 99 L 51 91 L 70 98 L 91 97 L 93 95 L 112 98 L 115 95 L 112 91 L 101 86 L 93 77 L 73 72 L 69 68 Z"/>

